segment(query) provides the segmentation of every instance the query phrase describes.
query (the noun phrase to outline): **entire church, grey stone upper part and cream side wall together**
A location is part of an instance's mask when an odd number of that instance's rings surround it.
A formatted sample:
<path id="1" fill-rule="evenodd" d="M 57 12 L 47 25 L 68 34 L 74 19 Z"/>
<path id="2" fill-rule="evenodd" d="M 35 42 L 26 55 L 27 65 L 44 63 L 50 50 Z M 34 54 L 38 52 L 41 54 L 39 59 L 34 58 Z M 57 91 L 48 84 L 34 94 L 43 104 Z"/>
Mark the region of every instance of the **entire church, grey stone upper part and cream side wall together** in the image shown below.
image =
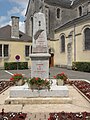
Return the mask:
<path id="1" fill-rule="evenodd" d="M 46 17 L 50 66 L 72 67 L 90 62 L 90 0 L 30 0 L 26 11 L 26 34 L 33 34 L 33 15 Z"/>

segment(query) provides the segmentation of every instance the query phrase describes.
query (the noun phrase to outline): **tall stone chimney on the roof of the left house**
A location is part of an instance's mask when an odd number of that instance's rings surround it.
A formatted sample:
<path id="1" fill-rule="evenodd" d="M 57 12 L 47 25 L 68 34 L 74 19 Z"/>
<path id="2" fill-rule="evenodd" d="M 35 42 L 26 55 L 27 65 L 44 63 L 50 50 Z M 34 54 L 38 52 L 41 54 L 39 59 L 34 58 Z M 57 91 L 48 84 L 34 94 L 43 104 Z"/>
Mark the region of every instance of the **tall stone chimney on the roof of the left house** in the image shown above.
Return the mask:
<path id="1" fill-rule="evenodd" d="M 19 17 L 12 16 L 11 38 L 19 39 Z"/>

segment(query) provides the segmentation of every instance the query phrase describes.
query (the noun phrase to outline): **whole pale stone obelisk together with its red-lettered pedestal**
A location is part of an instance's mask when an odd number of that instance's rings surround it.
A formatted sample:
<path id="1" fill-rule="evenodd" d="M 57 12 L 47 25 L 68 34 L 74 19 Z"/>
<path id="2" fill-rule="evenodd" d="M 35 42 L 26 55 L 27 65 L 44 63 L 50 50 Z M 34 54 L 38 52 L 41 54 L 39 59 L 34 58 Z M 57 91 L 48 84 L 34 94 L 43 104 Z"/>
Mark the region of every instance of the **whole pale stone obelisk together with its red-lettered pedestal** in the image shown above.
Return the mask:
<path id="1" fill-rule="evenodd" d="M 35 13 L 33 17 L 33 45 L 31 57 L 31 78 L 49 78 L 49 57 L 47 47 L 45 15 Z"/>

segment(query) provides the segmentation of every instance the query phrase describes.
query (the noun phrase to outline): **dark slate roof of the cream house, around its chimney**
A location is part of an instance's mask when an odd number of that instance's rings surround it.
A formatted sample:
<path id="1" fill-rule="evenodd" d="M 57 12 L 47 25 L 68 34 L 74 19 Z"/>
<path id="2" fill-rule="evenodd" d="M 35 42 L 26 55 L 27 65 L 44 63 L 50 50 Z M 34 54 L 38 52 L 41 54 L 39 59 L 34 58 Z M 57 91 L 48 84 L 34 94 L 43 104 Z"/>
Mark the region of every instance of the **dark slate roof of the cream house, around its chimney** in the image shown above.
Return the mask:
<path id="1" fill-rule="evenodd" d="M 19 31 L 19 36 L 20 38 L 11 38 L 11 26 L 7 25 L 2 28 L 0 28 L 0 40 L 10 40 L 10 41 L 25 41 L 25 42 L 30 42 L 31 37 L 26 35 L 25 33 Z"/>

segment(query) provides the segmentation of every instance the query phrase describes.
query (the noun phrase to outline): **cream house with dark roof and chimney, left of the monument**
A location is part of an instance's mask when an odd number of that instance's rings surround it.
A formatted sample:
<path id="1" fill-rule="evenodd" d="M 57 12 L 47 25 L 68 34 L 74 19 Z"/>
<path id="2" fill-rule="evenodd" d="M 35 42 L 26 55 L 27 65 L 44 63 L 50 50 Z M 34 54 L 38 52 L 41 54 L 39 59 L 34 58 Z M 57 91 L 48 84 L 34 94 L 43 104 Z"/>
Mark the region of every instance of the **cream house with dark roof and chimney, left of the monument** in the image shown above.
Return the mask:
<path id="1" fill-rule="evenodd" d="M 12 26 L 0 28 L 0 69 L 4 68 L 5 62 L 28 62 L 30 67 L 31 44 L 31 38 L 19 31 L 19 18 L 12 16 Z M 20 56 L 18 61 L 17 55 Z"/>

